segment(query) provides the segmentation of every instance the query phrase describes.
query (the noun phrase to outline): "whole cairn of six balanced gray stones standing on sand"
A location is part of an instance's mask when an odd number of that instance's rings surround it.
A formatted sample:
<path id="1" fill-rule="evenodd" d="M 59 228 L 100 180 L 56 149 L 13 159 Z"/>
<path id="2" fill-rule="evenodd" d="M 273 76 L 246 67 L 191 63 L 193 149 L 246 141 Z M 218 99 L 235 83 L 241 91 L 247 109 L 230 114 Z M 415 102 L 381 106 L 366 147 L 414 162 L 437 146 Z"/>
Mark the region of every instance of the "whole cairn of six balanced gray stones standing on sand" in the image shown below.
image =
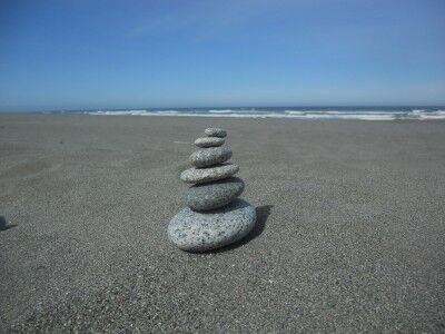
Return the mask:
<path id="1" fill-rule="evenodd" d="M 239 167 L 227 163 L 231 150 L 222 146 L 226 130 L 208 128 L 195 140 L 191 168 L 181 173 L 191 186 L 184 193 L 181 209 L 168 225 L 170 240 L 182 250 L 206 252 L 245 237 L 255 226 L 256 210 L 239 197 L 244 181 L 234 177 Z"/>

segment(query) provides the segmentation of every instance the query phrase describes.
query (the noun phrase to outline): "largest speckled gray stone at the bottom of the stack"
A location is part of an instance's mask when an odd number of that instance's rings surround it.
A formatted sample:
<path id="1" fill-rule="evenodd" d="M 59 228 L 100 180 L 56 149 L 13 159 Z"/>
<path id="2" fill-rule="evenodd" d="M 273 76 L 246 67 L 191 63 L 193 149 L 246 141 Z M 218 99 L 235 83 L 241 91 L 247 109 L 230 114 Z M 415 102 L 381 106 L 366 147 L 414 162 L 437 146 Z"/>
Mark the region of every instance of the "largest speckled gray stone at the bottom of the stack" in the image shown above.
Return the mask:
<path id="1" fill-rule="evenodd" d="M 182 250 L 216 249 L 245 237 L 255 226 L 256 210 L 243 199 L 206 213 L 186 207 L 168 225 L 169 239 Z"/>

